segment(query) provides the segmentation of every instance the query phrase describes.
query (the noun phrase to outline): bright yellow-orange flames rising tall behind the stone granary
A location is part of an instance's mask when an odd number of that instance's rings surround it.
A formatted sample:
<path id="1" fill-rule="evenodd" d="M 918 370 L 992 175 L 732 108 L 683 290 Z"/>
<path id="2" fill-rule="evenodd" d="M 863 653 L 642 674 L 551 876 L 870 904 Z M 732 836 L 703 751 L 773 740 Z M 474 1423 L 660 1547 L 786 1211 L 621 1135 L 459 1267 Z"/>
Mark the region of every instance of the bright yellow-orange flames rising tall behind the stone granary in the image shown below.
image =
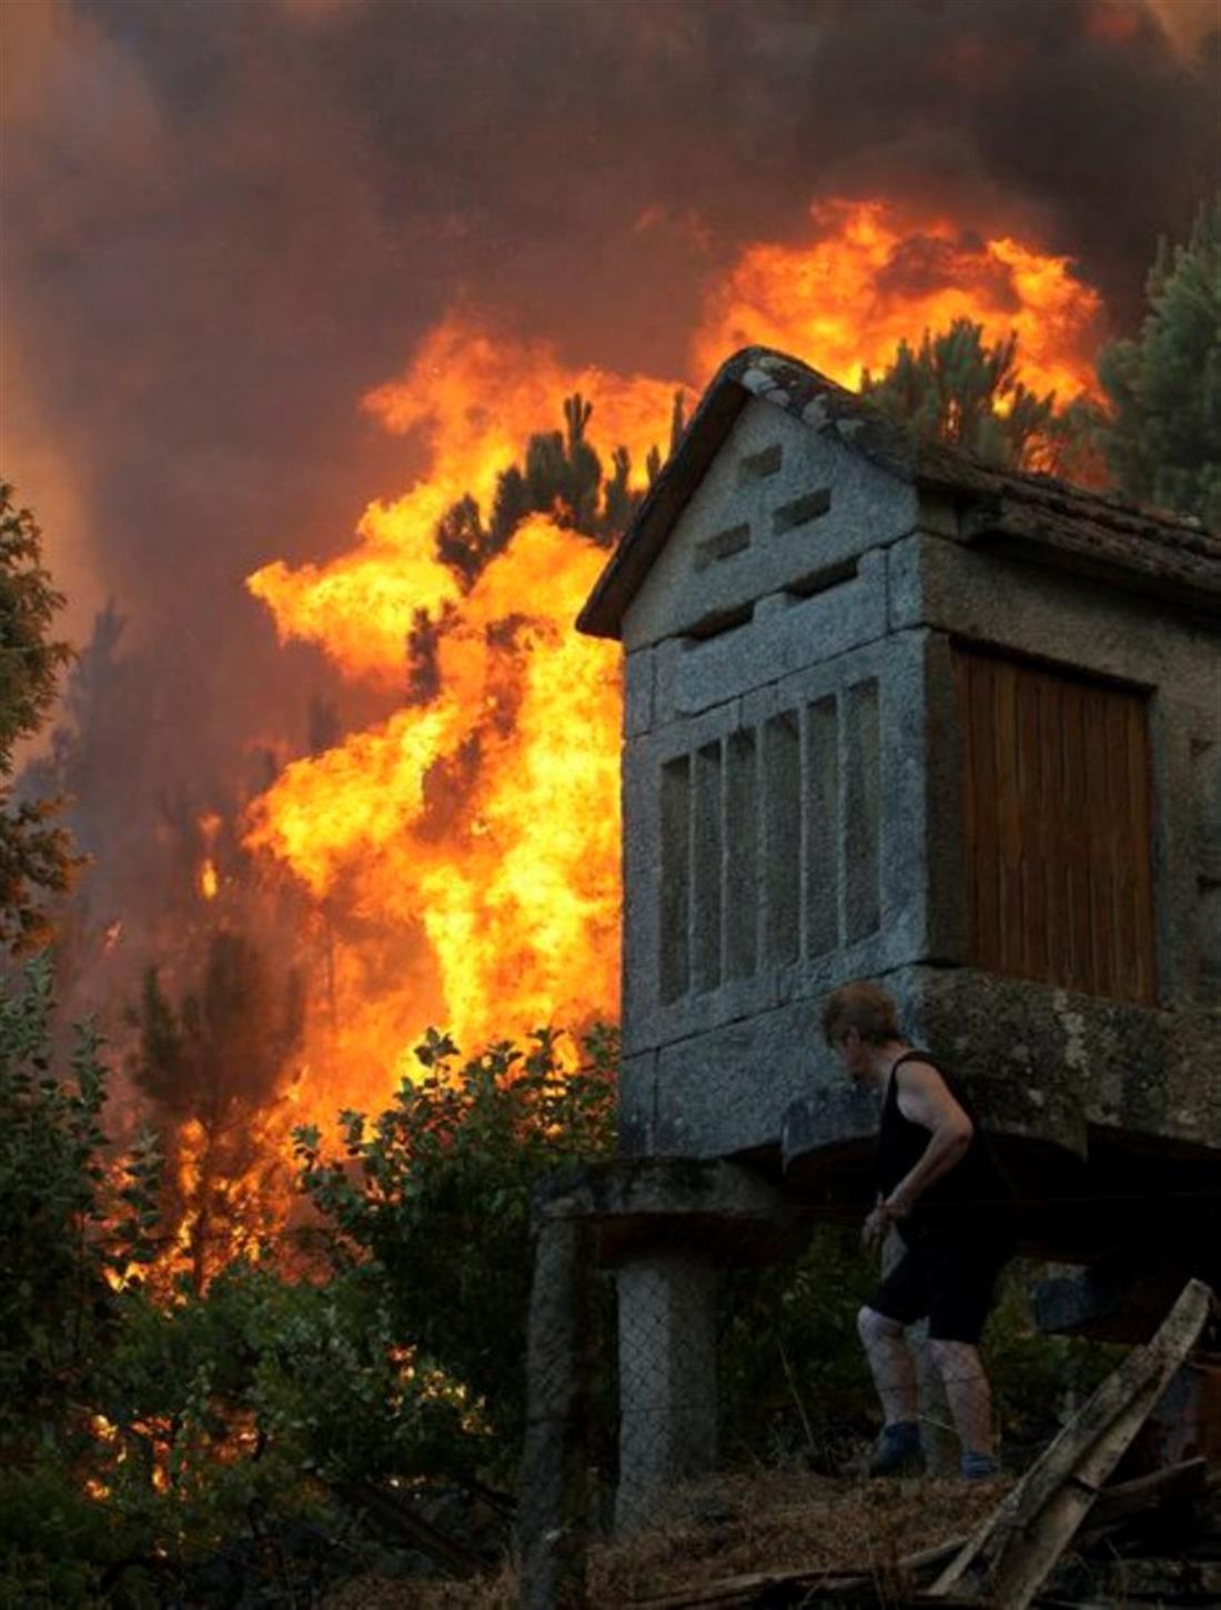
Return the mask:
<path id="1" fill-rule="evenodd" d="M 1100 304 L 1067 259 L 970 242 L 939 217 L 901 221 L 882 201 L 828 203 L 811 222 L 806 245 L 751 246 L 713 287 L 695 385 L 746 343 L 856 385 L 899 338 L 965 316 L 989 338 L 1018 332 L 1034 390 L 1092 391 Z M 310 1066 L 330 1072 L 309 1106 L 327 1117 L 410 1074 L 430 1022 L 478 1050 L 618 1014 L 619 654 L 573 631 L 606 555 L 532 515 L 463 591 L 434 528 L 468 491 L 487 510 L 497 473 L 574 391 L 595 402 L 603 465 L 626 444 L 640 486 L 674 390 L 449 317 L 399 383 L 365 399 L 388 430 L 421 438 L 426 473 L 368 507 L 352 552 L 249 578 L 282 641 L 314 641 L 383 686 L 404 678 L 417 610 L 446 618 L 434 697 L 288 766 L 251 815 L 248 844 L 307 886 L 325 932 L 331 1009 Z"/>

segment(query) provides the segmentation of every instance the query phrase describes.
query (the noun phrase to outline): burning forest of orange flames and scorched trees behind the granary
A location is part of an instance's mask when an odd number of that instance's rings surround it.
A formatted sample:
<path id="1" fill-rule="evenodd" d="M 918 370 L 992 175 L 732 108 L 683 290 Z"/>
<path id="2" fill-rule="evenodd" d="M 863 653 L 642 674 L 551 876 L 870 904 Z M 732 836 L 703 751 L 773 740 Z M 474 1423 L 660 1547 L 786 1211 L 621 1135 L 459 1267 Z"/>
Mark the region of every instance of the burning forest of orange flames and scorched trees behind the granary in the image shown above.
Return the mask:
<path id="1" fill-rule="evenodd" d="M 167 1269 L 203 1282 L 275 1236 L 293 1127 L 376 1109 L 420 1075 L 426 1029 L 478 1053 L 560 1027 L 571 1064 L 616 1019 L 618 657 L 571 623 L 726 351 L 766 341 L 861 385 L 954 320 L 988 345 L 1017 336 L 1013 382 L 1050 417 L 1097 396 L 1102 299 L 1070 259 L 837 200 L 809 208 L 803 240 L 748 245 L 706 285 L 677 375 L 573 367 L 454 311 L 362 398 L 415 444 L 418 475 L 368 504 L 349 552 L 270 560 L 246 586 L 282 644 L 327 658 L 336 700 L 356 689 L 376 718 L 341 734 L 315 697 L 306 753 L 275 736 L 211 803 L 161 805 L 179 889 L 137 942 L 156 961 L 111 1032 L 127 1122 L 151 1111 L 169 1158 Z M 119 633 L 101 618 L 77 702 L 130 678 Z M 72 713 L 77 733 L 114 720 Z M 40 786 L 92 792 L 79 749 L 64 729 Z M 77 918 L 69 977 L 130 977 L 125 947 L 122 911 Z"/>

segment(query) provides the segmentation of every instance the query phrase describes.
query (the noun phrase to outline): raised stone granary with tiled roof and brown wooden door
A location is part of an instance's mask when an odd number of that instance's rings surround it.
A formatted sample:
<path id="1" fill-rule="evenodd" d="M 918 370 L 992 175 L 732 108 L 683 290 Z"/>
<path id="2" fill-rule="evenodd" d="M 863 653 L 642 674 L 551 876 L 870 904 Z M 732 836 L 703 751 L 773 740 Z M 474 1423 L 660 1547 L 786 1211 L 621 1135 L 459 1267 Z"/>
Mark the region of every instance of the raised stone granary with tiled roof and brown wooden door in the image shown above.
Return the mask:
<path id="1" fill-rule="evenodd" d="M 1110 1301 L 1123 1328 L 1158 1274 L 1216 1282 L 1221 538 L 919 446 L 753 348 L 579 628 L 626 654 L 624 1156 L 856 1211 L 877 1113 L 819 1011 L 867 976 L 968 1079 L 1028 1248 L 1094 1267 L 1060 1323 Z M 708 1455 L 672 1385 L 709 1396 L 701 1190 L 698 1245 L 619 1246 L 621 1335 L 656 1338 L 623 1383 L 640 1492 Z"/>

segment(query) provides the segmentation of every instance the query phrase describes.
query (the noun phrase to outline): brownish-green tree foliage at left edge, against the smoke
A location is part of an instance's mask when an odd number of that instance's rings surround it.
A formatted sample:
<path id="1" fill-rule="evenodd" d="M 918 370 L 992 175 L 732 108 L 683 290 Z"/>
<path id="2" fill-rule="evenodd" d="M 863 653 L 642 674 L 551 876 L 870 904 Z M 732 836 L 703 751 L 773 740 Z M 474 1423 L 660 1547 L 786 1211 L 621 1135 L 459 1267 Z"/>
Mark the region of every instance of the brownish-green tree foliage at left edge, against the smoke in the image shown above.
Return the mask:
<path id="1" fill-rule="evenodd" d="M 71 658 L 50 636 L 64 599 L 42 567 L 42 531 L 0 481 L 0 945 L 21 953 L 50 937 L 42 895 L 61 894 L 79 865 L 56 800 L 11 799 L 13 752 L 39 731 Z"/>

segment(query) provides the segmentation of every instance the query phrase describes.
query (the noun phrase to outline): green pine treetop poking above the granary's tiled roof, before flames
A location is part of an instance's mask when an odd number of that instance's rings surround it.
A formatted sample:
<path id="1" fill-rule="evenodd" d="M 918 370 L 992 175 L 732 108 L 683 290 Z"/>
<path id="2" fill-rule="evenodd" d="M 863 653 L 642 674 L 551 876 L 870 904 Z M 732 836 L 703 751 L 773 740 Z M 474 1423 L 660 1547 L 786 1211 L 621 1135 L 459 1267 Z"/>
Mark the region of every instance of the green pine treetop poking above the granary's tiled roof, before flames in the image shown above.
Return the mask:
<path id="1" fill-rule="evenodd" d="M 861 393 L 922 441 L 1023 469 L 1047 457 L 1057 415 L 1055 393 L 1039 398 L 1017 378 L 1017 332 L 985 346 L 983 325 L 956 319 L 941 335 L 925 330 L 917 351 L 901 341 L 883 375 L 865 370 Z"/>

